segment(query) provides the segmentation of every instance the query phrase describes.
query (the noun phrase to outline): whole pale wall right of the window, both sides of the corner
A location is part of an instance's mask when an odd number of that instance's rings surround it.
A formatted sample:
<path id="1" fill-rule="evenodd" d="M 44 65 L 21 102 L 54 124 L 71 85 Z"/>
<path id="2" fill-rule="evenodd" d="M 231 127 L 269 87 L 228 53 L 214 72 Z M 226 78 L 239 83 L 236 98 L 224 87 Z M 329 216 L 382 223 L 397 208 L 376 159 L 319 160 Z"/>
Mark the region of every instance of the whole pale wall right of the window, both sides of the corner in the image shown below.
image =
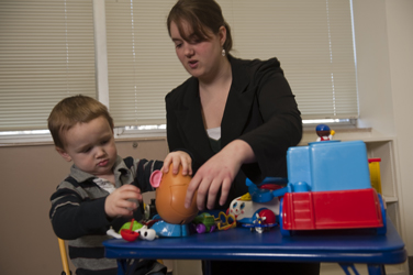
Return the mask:
<path id="1" fill-rule="evenodd" d="M 353 0 L 360 127 L 397 139 L 402 237 L 413 255 L 413 1 Z"/>

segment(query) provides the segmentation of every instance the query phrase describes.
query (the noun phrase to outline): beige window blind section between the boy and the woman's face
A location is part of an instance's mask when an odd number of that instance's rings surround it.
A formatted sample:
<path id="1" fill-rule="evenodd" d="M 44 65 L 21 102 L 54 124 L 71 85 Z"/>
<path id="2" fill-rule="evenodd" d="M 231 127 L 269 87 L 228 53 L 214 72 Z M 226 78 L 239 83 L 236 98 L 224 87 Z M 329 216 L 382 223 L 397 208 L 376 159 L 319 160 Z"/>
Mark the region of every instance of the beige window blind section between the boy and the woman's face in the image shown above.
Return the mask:
<path id="1" fill-rule="evenodd" d="M 166 19 L 175 0 L 105 1 L 109 107 L 116 125 L 165 123 L 165 96 L 189 77 Z"/>

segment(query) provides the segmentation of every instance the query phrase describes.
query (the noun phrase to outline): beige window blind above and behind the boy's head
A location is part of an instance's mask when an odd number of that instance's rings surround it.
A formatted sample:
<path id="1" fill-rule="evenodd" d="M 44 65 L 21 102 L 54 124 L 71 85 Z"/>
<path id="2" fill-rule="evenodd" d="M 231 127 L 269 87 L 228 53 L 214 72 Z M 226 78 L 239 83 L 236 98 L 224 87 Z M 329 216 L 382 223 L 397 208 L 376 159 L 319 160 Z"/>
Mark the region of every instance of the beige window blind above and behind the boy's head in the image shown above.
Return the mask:
<path id="1" fill-rule="evenodd" d="M 0 1 L 0 131 L 47 129 L 53 107 L 96 97 L 92 1 Z"/>

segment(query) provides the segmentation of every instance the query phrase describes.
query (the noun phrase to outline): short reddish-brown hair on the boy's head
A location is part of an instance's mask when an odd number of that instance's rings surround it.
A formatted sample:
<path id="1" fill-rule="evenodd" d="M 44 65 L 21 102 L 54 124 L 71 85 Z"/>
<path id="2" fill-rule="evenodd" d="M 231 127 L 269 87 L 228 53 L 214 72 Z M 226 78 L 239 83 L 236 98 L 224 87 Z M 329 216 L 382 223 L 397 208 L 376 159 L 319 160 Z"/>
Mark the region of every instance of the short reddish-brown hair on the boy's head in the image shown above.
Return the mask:
<path id="1" fill-rule="evenodd" d="M 55 146 L 65 148 L 64 135 L 70 128 L 99 117 L 105 118 L 113 130 L 113 119 L 108 108 L 98 100 L 82 95 L 63 99 L 53 108 L 47 119 Z"/>

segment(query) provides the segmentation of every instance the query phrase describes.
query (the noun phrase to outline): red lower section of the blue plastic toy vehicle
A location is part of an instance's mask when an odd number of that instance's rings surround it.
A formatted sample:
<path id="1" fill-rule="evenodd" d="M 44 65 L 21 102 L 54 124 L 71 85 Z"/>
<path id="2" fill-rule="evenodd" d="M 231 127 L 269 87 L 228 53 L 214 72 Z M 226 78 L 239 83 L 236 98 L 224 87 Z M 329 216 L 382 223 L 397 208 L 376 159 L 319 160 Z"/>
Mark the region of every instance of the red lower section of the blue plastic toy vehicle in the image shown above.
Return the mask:
<path id="1" fill-rule="evenodd" d="M 372 188 L 287 193 L 281 206 L 283 209 L 280 219 L 283 230 L 383 227 L 380 200 Z M 362 209 L 362 215 L 360 215 L 360 209 Z"/>

